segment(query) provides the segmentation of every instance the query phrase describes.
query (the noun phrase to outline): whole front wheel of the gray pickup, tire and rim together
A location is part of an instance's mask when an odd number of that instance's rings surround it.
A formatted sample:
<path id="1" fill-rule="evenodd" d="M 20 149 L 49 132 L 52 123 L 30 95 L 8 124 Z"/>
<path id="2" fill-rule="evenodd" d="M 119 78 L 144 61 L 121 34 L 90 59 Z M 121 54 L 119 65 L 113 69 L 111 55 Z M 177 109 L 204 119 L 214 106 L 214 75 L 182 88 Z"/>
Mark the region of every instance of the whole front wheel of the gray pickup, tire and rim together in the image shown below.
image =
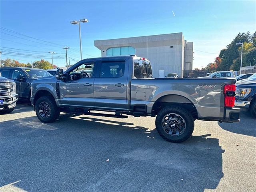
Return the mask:
<path id="1" fill-rule="evenodd" d="M 56 121 L 60 115 L 60 109 L 51 96 L 42 96 L 36 101 L 36 116 L 44 123 Z"/>

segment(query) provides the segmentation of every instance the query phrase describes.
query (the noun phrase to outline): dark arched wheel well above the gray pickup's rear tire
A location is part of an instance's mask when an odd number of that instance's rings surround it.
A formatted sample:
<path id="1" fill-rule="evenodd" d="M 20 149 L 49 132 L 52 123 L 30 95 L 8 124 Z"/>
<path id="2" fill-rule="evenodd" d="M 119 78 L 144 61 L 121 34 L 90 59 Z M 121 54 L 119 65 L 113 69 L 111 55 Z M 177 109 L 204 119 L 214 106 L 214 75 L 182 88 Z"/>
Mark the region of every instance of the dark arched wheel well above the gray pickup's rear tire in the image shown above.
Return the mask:
<path id="1" fill-rule="evenodd" d="M 194 104 L 189 99 L 180 95 L 166 95 L 158 98 L 153 105 L 152 114 L 158 114 L 158 112 L 166 106 L 180 106 L 188 110 L 194 119 L 198 118 Z"/>

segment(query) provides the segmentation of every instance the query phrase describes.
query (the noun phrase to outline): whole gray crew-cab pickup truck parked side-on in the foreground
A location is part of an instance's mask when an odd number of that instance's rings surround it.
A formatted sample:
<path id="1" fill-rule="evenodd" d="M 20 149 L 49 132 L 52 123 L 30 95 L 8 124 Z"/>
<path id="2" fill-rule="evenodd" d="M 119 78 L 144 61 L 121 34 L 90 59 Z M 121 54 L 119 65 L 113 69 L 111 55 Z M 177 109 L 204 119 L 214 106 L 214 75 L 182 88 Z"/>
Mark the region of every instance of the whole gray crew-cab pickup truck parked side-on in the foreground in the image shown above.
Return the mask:
<path id="1" fill-rule="evenodd" d="M 150 62 L 134 55 L 90 58 L 65 72 L 58 70 L 56 76 L 34 80 L 31 104 L 46 123 L 54 122 L 60 112 L 156 116 L 156 130 L 165 140 L 183 142 L 196 119 L 239 121 L 235 83 L 235 78 L 154 79 Z"/>

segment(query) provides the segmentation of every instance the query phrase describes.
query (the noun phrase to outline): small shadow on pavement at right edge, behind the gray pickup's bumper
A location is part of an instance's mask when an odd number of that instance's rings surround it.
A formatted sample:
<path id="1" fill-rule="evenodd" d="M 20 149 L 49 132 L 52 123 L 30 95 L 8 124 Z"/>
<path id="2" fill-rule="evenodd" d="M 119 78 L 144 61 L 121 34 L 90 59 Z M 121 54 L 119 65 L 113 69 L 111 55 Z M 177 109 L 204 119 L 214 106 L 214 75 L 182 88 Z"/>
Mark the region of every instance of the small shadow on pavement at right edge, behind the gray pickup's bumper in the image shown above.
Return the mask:
<path id="1" fill-rule="evenodd" d="M 238 123 L 218 122 L 218 125 L 222 129 L 233 133 L 256 137 L 256 119 L 248 111 L 241 111 L 240 122 Z"/>

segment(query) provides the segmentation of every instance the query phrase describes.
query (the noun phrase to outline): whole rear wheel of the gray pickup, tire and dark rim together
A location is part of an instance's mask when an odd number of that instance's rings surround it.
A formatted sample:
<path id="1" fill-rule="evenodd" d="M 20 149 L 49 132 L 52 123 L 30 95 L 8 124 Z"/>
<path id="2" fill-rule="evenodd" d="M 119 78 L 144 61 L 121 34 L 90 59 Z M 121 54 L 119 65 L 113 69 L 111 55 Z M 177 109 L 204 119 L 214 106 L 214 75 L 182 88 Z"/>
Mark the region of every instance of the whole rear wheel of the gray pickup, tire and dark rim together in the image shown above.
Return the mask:
<path id="1" fill-rule="evenodd" d="M 192 135 L 194 118 L 182 107 L 166 106 L 156 117 L 156 130 L 165 140 L 180 143 Z"/>

